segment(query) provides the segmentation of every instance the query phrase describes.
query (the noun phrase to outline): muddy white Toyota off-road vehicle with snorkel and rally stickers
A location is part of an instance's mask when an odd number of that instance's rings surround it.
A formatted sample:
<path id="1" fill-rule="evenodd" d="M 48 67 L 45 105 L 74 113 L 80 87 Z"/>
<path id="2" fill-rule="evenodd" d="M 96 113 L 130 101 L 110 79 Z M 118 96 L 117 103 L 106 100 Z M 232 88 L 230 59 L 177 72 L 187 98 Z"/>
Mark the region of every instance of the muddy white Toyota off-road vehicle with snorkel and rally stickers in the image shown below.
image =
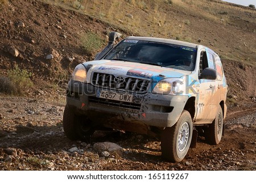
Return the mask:
<path id="1" fill-rule="evenodd" d="M 162 155 L 180 162 L 202 130 L 221 141 L 226 78 L 213 50 L 183 41 L 130 36 L 96 60 L 76 66 L 67 87 L 63 125 L 69 139 L 98 128 L 159 137 Z M 202 131 L 200 133 L 202 133 Z"/>

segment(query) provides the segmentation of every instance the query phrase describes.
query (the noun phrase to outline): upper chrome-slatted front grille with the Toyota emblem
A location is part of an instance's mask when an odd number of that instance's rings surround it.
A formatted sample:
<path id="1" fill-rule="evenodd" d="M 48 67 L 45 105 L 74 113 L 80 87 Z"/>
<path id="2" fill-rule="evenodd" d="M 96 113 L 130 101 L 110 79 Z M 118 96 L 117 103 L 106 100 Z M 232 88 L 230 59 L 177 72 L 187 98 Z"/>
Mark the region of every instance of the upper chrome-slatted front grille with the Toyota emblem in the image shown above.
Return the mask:
<path id="1" fill-rule="evenodd" d="M 93 73 L 92 84 L 96 87 L 109 88 L 127 92 L 145 93 L 148 90 L 150 80 L 115 76 L 112 74 Z"/>

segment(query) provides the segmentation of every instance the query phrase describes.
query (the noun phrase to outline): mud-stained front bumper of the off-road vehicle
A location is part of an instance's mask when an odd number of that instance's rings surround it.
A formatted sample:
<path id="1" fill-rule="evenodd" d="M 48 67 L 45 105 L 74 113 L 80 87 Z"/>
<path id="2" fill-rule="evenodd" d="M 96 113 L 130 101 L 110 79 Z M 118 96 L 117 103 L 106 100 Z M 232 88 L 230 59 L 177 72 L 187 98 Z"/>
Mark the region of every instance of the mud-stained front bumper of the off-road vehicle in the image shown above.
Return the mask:
<path id="1" fill-rule="evenodd" d="M 188 96 L 133 93 L 133 102 L 123 103 L 97 98 L 98 89 L 89 83 L 70 81 L 67 105 L 77 114 L 86 115 L 95 125 L 111 128 L 125 122 L 159 128 L 171 127 L 179 119 L 188 100 Z"/>

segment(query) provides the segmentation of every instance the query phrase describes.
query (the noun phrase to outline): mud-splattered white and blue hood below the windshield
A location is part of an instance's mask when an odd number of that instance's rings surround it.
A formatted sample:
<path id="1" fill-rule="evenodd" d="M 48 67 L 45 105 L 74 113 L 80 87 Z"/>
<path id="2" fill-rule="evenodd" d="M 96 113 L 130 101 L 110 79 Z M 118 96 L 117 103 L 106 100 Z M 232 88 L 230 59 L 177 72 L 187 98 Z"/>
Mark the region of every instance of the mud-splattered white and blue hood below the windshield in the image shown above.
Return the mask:
<path id="1" fill-rule="evenodd" d="M 177 70 L 167 67 L 160 67 L 147 64 L 139 64 L 126 61 L 99 60 L 84 62 L 83 65 L 88 70 L 88 75 L 92 72 L 112 74 L 115 76 L 131 76 L 148 79 L 180 78 L 191 74 L 191 71 Z"/>

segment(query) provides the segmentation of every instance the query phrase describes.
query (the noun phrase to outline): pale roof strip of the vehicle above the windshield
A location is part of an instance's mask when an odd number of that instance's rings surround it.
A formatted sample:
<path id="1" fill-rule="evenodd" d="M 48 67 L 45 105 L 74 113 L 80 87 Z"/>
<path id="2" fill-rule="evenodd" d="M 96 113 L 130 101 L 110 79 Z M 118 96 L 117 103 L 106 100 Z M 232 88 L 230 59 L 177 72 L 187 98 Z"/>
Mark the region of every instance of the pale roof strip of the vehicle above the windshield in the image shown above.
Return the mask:
<path id="1" fill-rule="evenodd" d="M 184 42 L 184 41 L 172 40 L 172 39 L 162 39 L 162 38 L 155 38 L 155 37 L 130 36 L 130 37 L 127 37 L 126 39 L 144 40 L 144 41 L 153 41 L 153 42 L 159 42 L 159 43 L 175 44 L 175 45 L 181 45 L 181 46 L 188 46 L 190 48 L 197 48 L 197 46 L 198 46 L 198 44 L 187 43 L 187 42 Z"/>

